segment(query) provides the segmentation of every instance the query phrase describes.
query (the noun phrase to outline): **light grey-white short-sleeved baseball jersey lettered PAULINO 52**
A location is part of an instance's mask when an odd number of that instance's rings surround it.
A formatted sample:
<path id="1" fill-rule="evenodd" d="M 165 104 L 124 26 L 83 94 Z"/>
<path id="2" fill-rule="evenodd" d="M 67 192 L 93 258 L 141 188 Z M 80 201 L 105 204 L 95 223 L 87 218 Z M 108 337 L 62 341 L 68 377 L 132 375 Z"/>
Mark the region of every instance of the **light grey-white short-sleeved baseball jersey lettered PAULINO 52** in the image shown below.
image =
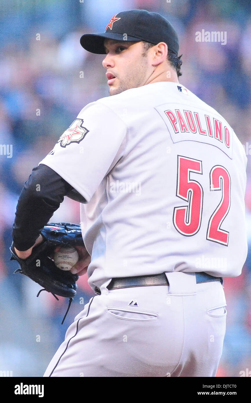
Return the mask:
<path id="1" fill-rule="evenodd" d="M 87 202 L 93 289 L 113 277 L 241 273 L 247 157 L 226 120 L 182 85 L 88 104 L 40 164 Z"/>

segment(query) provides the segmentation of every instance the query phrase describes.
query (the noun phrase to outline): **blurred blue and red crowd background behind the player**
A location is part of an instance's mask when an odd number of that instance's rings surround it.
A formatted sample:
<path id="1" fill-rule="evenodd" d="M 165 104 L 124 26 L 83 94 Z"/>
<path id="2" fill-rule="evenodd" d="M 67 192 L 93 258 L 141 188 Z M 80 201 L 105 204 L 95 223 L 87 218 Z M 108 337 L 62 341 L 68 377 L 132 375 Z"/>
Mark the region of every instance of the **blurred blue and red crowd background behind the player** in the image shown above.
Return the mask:
<path id="1" fill-rule="evenodd" d="M 103 56 L 83 50 L 81 35 L 103 32 L 114 14 L 133 8 L 160 12 L 174 25 L 183 54 L 180 83 L 218 110 L 245 147 L 251 243 L 250 2 L 0 0 L 0 144 L 12 145 L 12 158 L 0 155 L 0 370 L 13 376 L 43 375 L 68 325 L 93 295 L 82 276 L 61 326 L 67 301 L 46 292 L 36 298 L 41 287 L 13 274 L 18 265 L 9 261 L 11 230 L 32 168 L 86 104 L 108 96 Z M 226 44 L 196 42 L 202 29 L 226 31 Z M 66 197 L 51 221 L 78 223 L 79 204 Z M 217 376 L 237 377 L 251 370 L 250 252 L 241 276 L 225 278 L 224 288 L 227 330 Z"/>

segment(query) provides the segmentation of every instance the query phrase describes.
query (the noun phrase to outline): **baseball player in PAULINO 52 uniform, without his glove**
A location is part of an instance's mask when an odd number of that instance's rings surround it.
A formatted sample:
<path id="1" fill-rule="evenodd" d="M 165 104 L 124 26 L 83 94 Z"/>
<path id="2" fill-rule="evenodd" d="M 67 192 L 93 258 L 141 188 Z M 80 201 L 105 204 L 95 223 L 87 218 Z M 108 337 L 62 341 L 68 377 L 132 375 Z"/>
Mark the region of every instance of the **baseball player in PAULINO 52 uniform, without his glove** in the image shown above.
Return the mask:
<path id="1" fill-rule="evenodd" d="M 33 169 L 13 226 L 25 259 L 64 196 L 80 202 L 85 247 L 71 270 L 88 266 L 96 295 L 44 376 L 216 376 L 222 278 L 239 276 L 247 255 L 243 147 L 178 82 L 178 37 L 158 13 L 120 12 L 81 45 L 105 55 L 110 96 Z"/>

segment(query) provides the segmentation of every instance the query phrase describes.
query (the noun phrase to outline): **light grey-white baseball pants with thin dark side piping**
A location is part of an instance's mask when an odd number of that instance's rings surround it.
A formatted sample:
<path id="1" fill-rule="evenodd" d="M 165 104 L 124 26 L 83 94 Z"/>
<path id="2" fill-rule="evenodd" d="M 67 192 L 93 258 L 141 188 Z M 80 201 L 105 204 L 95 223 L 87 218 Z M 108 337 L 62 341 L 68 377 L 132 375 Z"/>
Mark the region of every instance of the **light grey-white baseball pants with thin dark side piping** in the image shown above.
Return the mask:
<path id="1" fill-rule="evenodd" d="M 226 330 L 222 284 L 197 284 L 193 273 L 166 276 L 169 286 L 108 291 L 106 282 L 69 326 L 44 376 L 216 376 Z"/>

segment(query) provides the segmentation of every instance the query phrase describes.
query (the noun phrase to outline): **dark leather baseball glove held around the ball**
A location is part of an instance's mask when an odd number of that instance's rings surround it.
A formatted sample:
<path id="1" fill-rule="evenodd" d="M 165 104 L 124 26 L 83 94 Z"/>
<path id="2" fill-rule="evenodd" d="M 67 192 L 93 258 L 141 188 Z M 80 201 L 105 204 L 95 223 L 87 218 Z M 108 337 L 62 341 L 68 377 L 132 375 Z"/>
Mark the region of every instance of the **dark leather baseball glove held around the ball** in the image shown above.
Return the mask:
<path id="1" fill-rule="evenodd" d="M 72 274 L 70 271 L 59 269 L 54 264 L 51 256 L 54 249 L 58 246 L 84 246 L 81 227 L 80 225 L 67 222 L 59 222 L 56 224 L 49 222 L 42 229 L 41 235 L 44 241 L 33 247 L 32 253 L 27 259 L 20 259 L 17 256 L 12 242 L 10 246 L 10 253 L 12 255 L 10 260 L 17 260 L 20 264 L 20 268 L 17 269 L 15 273 L 25 274 L 25 276 L 31 278 L 31 280 L 43 287 L 37 294 L 37 297 L 41 291 L 45 290 L 52 293 L 56 299 L 58 299 L 56 295 L 69 298 L 69 310 L 71 301 L 77 293 L 76 281 L 79 276 Z"/>

